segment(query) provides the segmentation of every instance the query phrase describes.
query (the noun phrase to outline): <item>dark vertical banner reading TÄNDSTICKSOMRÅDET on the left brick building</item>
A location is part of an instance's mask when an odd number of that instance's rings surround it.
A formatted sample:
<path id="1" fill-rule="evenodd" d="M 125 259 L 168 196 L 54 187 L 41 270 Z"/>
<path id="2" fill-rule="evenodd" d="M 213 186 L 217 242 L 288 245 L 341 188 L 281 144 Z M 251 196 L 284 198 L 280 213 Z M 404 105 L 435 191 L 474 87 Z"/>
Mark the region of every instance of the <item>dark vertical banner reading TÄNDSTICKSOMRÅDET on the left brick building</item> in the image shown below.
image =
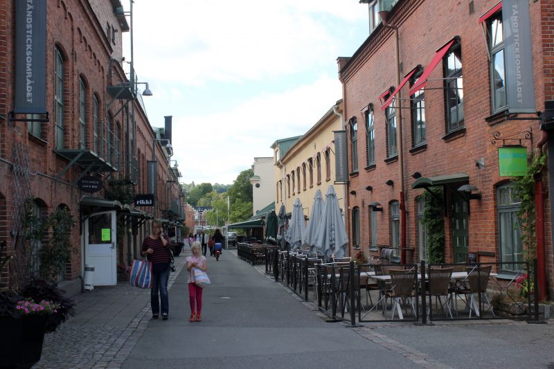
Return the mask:
<path id="1" fill-rule="evenodd" d="M 46 0 L 15 1 L 15 107 L 46 114 Z"/>

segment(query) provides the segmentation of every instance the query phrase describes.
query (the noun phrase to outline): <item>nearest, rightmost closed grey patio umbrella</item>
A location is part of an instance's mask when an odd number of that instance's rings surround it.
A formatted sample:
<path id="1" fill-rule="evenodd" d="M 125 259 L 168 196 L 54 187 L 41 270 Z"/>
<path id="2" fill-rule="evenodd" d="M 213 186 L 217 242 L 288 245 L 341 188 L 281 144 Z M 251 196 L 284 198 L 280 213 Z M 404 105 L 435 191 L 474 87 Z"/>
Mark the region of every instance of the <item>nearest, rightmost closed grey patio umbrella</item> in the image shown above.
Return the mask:
<path id="1" fill-rule="evenodd" d="M 333 256 L 335 258 L 343 257 L 346 244 L 348 244 L 348 235 L 341 217 L 337 192 L 334 192 L 333 186 L 329 186 L 325 206 L 323 206 L 319 226 L 316 230 L 314 246 L 329 260 Z"/>

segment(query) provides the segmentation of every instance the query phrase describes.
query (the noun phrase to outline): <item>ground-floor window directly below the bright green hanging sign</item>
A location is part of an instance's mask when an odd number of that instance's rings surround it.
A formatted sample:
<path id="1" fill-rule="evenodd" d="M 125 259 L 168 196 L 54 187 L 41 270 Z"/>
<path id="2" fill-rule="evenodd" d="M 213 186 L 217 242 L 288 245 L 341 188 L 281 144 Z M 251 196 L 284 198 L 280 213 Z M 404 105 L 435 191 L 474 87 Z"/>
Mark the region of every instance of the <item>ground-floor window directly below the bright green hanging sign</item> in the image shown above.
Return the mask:
<path id="1" fill-rule="evenodd" d="M 501 262 L 523 262 L 523 243 L 521 242 L 521 223 L 517 211 L 521 201 L 515 197 L 513 187 L 508 184 L 497 189 L 498 234 Z M 522 264 L 502 264 L 501 269 L 518 271 Z"/>

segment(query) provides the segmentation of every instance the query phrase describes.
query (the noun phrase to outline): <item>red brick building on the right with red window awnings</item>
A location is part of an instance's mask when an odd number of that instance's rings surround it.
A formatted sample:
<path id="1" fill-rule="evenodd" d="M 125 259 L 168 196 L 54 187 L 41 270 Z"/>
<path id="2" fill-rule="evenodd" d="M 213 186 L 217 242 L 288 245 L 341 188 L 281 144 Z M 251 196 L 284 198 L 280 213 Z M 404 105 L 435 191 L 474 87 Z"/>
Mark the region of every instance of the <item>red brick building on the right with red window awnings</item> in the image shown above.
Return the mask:
<path id="1" fill-rule="evenodd" d="M 446 262 L 465 262 L 468 255 L 480 262 L 523 260 L 515 177 L 500 172 L 507 164 L 499 158 L 521 159 L 523 150 L 525 162 L 553 146 L 554 4 L 364 2 L 370 35 L 352 57 L 338 61 L 350 141 L 350 244 L 366 254 L 393 246 L 398 262 L 426 260 L 422 195 L 442 190 Z M 379 10 L 387 11 L 386 21 Z M 521 17 L 513 21 L 515 13 Z M 544 193 L 537 196 L 535 241 L 543 253 L 542 285 L 552 296 L 549 175 L 546 167 L 537 176 Z M 498 269 L 512 278 L 519 266 Z"/>

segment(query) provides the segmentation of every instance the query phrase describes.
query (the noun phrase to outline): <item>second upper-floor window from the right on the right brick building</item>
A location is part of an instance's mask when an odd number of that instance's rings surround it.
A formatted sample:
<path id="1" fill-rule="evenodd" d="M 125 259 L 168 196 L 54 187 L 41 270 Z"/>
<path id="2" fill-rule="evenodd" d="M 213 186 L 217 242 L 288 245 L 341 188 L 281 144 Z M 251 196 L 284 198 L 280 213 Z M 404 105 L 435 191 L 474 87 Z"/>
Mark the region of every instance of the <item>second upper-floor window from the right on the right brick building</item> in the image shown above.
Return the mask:
<path id="1" fill-rule="evenodd" d="M 463 125 L 463 78 L 462 78 L 462 48 L 455 43 L 446 53 L 445 93 L 447 132 L 452 132 Z"/>

